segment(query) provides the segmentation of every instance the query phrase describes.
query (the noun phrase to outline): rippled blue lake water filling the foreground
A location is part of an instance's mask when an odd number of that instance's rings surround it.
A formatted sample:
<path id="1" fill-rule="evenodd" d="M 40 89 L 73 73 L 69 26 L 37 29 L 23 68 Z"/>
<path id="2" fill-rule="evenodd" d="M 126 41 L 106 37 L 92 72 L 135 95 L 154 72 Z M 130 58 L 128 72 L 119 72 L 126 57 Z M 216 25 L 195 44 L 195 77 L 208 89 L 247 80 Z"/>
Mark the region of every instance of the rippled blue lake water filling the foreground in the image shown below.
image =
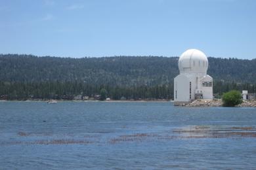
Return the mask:
<path id="1" fill-rule="evenodd" d="M 256 109 L 0 102 L 0 169 L 255 169 Z"/>

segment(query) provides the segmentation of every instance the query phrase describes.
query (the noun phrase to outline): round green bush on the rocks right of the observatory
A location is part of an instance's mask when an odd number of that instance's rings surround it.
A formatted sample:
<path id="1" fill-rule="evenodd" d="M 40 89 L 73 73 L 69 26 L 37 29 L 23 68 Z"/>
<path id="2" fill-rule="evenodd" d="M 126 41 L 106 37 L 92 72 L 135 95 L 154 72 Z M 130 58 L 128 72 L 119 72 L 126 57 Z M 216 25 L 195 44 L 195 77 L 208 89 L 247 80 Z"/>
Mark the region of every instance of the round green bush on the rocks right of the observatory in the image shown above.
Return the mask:
<path id="1" fill-rule="evenodd" d="M 237 90 L 231 90 L 223 94 L 223 106 L 224 107 L 234 107 L 242 103 L 242 95 Z"/>

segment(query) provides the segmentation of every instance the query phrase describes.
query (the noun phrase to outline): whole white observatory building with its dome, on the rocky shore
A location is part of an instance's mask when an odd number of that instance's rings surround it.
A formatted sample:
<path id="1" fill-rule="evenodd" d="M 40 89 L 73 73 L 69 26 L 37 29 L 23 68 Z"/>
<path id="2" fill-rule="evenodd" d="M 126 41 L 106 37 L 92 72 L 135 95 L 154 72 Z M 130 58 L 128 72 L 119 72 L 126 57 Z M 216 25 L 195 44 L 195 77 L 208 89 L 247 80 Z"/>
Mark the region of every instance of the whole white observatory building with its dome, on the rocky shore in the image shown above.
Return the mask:
<path id="1" fill-rule="evenodd" d="M 194 99 L 213 99 L 213 78 L 207 75 L 208 59 L 200 50 L 190 49 L 179 58 L 180 74 L 174 78 L 175 105 Z"/>

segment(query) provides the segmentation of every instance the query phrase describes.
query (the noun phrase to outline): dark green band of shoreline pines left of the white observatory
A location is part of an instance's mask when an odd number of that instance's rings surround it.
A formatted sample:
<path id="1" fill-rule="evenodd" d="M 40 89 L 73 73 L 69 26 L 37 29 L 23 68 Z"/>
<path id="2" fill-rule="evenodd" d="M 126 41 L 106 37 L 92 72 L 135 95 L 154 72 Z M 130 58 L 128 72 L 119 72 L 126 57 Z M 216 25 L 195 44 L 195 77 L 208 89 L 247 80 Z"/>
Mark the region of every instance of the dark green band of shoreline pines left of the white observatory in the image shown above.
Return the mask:
<path id="1" fill-rule="evenodd" d="M 109 86 L 84 82 L 0 82 L 1 99 L 73 99 L 75 95 L 95 97 L 106 90 L 111 99 L 171 99 L 173 85 L 163 86 Z"/>

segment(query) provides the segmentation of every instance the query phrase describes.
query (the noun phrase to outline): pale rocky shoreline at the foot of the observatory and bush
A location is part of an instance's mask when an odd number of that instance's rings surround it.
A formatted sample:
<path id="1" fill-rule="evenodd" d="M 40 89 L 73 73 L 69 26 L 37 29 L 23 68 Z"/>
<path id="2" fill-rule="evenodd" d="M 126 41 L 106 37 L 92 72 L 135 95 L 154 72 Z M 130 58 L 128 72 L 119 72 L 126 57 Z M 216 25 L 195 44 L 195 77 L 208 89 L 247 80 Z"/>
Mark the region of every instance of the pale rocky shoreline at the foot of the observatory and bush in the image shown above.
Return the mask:
<path id="1" fill-rule="evenodd" d="M 222 107 L 223 102 L 221 99 L 214 100 L 194 100 L 191 103 L 184 105 L 186 107 Z M 251 101 L 243 101 L 240 105 L 236 105 L 236 107 L 256 107 L 256 100 Z"/>

